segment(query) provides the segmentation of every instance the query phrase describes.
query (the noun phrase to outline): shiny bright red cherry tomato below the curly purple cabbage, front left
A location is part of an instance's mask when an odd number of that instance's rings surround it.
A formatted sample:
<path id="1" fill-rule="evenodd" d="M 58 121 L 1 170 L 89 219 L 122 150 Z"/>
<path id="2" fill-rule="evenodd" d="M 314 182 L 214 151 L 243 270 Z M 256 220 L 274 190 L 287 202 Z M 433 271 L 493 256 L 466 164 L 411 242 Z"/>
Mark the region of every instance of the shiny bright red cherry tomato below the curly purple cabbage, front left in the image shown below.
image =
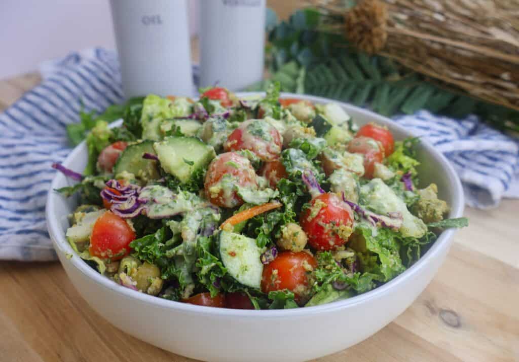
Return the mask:
<path id="1" fill-rule="evenodd" d="M 130 252 L 129 244 L 135 239 L 130 225 L 111 211 L 106 211 L 95 221 L 90 235 L 91 256 L 119 260 Z"/>

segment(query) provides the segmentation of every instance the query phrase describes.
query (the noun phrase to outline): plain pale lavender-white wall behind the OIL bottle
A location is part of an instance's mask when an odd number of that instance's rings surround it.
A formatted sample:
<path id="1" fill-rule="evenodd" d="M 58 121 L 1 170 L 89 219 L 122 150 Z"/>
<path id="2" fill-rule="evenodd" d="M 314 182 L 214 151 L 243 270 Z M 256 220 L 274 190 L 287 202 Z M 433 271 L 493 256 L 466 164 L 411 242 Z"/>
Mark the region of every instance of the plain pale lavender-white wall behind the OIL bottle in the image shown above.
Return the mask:
<path id="1" fill-rule="evenodd" d="M 198 2 L 188 2 L 193 34 Z M 94 46 L 115 49 L 108 0 L 0 0 L 0 79 Z"/>

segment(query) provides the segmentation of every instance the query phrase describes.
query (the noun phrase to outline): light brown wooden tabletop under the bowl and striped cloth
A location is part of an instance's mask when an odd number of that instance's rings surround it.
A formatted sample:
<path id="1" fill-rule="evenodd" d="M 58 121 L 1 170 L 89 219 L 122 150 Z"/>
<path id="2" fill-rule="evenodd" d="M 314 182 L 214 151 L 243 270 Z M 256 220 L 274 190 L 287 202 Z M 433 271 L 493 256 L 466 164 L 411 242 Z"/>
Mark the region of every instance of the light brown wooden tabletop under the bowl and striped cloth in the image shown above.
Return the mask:
<path id="1" fill-rule="evenodd" d="M 38 82 L 37 74 L 0 81 L 0 110 Z M 319 361 L 519 361 L 518 215 L 517 200 L 467 208 L 470 227 L 456 234 L 445 264 L 409 309 Z M 0 290 L 0 361 L 190 360 L 108 324 L 59 262 L 0 262 Z"/>

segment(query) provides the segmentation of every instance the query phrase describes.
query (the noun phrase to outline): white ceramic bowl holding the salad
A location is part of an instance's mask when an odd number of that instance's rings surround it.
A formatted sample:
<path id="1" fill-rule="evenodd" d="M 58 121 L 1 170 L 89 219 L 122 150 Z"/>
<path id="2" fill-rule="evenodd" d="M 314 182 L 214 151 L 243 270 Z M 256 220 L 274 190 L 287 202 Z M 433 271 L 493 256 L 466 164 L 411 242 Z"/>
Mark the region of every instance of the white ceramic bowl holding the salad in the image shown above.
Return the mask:
<path id="1" fill-rule="evenodd" d="M 284 96 L 316 103 L 330 102 L 318 97 Z M 388 118 L 348 104 L 342 106 L 359 125 L 368 122 L 386 125 L 397 140 L 412 136 Z M 418 158 L 420 179 L 438 184 L 440 197 L 451 207 L 449 217 L 461 217 L 463 191 L 445 157 L 422 142 Z M 86 162 L 87 149 L 85 143 L 81 143 L 63 165 L 81 172 Z M 69 184 L 69 180 L 57 173 L 51 190 Z M 389 283 L 360 296 L 295 310 L 229 310 L 148 296 L 95 272 L 65 239 L 69 226 L 67 215 L 76 205 L 76 199 L 65 199 L 51 191 L 46 213 L 54 248 L 81 296 L 122 331 L 165 350 L 202 360 L 300 361 L 356 344 L 411 305 L 442 265 L 454 234 L 452 229 L 444 231 L 416 264 Z"/>

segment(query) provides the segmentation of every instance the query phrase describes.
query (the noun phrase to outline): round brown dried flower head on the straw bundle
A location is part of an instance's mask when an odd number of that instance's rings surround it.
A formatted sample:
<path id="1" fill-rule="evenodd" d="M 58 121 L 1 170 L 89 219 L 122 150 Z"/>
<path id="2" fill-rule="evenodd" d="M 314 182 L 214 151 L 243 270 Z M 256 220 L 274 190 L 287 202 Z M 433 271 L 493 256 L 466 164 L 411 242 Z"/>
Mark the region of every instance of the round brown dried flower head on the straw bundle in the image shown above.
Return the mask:
<path id="1" fill-rule="evenodd" d="M 360 50 L 374 54 L 387 39 L 387 8 L 378 0 L 362 0 L 345 13 L 345 35 Z"/>

